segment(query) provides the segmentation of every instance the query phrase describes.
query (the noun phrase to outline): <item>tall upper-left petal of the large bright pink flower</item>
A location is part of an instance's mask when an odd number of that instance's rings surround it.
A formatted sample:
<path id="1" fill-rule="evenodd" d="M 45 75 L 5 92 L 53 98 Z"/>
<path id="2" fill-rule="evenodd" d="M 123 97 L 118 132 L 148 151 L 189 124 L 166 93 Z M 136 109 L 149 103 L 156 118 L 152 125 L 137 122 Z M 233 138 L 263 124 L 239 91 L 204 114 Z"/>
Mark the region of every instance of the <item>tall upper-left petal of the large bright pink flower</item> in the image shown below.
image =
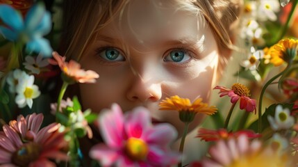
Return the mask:
<path id="1" fill-rule="evenodd" d="M 124 118 L 118 104 L 112 104 L 111 110 L 99 115 L 99 128 L 108 146 L 119 148 L 124 141 Z"/>

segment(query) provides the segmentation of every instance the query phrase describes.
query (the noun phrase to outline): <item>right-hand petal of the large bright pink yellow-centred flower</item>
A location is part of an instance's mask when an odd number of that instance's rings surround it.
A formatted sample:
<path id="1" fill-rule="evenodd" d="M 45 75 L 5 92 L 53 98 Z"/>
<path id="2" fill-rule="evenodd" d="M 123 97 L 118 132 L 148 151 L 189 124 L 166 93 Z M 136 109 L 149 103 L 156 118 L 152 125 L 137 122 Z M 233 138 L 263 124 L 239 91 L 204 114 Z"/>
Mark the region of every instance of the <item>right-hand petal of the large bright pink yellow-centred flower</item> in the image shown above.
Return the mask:
<path id="1" fill-rule="evenodd" d="M 149 144 L 159 145 L 165 147 L 172 143 L 177 137 L 177 132 L 172 125 L 167 123 L 154 126 L 149 129 L 144 140 Z"/>

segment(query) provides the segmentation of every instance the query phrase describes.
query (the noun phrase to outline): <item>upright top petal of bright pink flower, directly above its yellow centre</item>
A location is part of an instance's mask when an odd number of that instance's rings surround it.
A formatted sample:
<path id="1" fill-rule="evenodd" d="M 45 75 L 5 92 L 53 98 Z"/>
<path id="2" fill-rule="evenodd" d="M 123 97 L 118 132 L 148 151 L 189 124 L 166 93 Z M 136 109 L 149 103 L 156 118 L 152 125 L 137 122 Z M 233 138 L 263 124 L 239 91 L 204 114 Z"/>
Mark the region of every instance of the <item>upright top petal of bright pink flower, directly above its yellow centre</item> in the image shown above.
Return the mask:
<path id="1" fill-rule="evenodd" d="M 128 137 L 141 138 L 144 132 L 147 131 L 148 127 L 151 126 L 151 117 L 149 111 L 139 106 L 131 113 L 126 115 L 125 130 Z"/>

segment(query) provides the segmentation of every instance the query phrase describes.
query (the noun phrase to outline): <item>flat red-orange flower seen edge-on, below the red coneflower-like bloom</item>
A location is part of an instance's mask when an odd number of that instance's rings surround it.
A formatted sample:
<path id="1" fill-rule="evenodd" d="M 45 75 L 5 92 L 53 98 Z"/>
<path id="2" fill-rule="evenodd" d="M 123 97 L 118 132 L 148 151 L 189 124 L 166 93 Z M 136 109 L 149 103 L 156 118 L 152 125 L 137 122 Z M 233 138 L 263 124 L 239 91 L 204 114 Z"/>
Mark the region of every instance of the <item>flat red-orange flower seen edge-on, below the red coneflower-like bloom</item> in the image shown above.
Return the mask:
<path id="1" fill-rule="evenodd" d="M 227 140 L 229 138 L 237 138 L 240 135 L 246 135 L 248 138 L 258 138 L 261 135 L 256 134 L 251 130 L 240 130 L 238 132 L 227 132 L 226 129 L 205 129 L 200 128 L 198 138 L 201 138 L 201 141 L 219 141 Z"/>

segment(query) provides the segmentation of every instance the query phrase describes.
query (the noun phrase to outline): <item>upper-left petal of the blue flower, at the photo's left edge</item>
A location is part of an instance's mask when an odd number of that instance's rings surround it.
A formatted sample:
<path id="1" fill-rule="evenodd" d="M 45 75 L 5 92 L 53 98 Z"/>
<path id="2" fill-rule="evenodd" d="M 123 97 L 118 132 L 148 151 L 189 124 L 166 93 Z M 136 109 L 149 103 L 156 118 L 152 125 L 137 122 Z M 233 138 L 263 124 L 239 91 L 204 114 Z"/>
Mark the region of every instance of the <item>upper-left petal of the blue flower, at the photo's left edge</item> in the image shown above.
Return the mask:
<path id="1" fill-rule="evenodd" d="M 21 31 L 24 29 L 22 15 L 9 5 L 0 5 L 0 18 L 14 31 Z"/>

